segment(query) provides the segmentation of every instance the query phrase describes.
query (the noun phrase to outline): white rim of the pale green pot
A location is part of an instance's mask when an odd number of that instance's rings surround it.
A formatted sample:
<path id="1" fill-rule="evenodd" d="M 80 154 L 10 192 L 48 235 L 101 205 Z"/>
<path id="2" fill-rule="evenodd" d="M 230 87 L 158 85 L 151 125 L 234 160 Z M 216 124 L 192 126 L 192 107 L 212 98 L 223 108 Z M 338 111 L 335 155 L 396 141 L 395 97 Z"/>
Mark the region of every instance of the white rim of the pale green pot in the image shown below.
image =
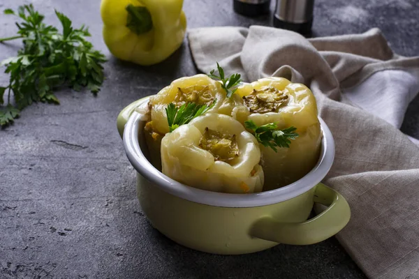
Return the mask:
<path id="1" fill-rule="evenodd" d="M 149 163 L 142 153 L 138 142 L 141 116 L 142 114 L 133 112 L 124 129 L 124 147 L 128 160 L 137 172 L 152 182 L 154 186 L 166 193 L 199 204 L 222 207 L 254 207 L 284 202 L 302 193 L 306 193 L 316 186 L 317 183 L 321 182 L 326 174 L 328 174 L 335 158 L 335 141 L 333 140 L 332 133 L 330 133 L 323 119 L 319 117 L 321 130 L 323 131 L 321 153 L 314 168 L 301 179 L 288 186 L 262 193 L 229 194 L 201 190 L 171 179 Z"/>

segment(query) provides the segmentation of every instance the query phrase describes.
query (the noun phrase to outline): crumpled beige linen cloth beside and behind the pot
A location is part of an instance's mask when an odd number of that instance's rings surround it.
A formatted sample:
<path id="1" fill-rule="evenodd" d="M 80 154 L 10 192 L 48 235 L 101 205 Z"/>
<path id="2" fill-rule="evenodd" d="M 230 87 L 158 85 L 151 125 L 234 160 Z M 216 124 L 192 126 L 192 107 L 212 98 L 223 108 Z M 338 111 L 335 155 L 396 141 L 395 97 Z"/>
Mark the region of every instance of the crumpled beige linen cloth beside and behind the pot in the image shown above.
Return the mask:
<path id="1" fill-rule="evenodd" d="M 419 278 L 419 148 L 400 128 L 419 92 L 419 57 L 392 52 L 378 29 L 305 39 L 253 26 L 189 30 L 196 66 L 244 81 L 281 76 L 311 88 L 335 137 L 324 182 L 348 200 L 337 239 L 369 278 Z"/>

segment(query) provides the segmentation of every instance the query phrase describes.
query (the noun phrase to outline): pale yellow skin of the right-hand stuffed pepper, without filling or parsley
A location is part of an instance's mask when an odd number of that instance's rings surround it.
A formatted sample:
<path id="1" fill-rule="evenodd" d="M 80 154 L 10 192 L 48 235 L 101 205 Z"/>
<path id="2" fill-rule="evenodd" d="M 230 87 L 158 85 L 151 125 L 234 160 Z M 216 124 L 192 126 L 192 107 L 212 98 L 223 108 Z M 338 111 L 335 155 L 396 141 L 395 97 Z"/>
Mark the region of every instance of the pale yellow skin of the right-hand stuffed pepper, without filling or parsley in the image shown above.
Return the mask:
<path id="1" fill-rule="evenodd" d="M 279 107 L 273 107 L 271 112 L 251 112 L 245 105 L 237 107 L 233 115 L 240 122 L 252 120 L 258 126 L 277 123 L 279 130 L 290 126 L 297 128 L 298 137 L 291 140 L 289 148 L 282 147 L 275 152 L 260 144 L 261 165 L 265 172 L 264 191 L 286 186 L 307 174 L 317 163 L 322 138 L 316 99 L 304 84 L 292 83 L 283 77 L 268 77 L 240 86 L 235 93 L 246 97 L 253 90 L 269 92 L 272 87 L 286 97 Z M 266 98 L 266 94 L 261 97 Z"/>

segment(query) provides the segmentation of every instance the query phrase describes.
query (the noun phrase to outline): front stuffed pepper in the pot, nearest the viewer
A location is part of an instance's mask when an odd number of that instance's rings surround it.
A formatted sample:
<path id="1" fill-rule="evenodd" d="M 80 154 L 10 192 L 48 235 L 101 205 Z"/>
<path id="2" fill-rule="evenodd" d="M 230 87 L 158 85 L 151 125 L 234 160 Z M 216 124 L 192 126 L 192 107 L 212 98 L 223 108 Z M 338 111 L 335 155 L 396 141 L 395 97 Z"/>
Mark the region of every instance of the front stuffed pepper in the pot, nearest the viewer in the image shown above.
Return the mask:
<path id="1" fill-rule="evenodd" d="M 163 174 L 194 188 L 257 193 L 263 169 L 256 138 L 224 114 L 208 113 L 167 133 L 161 141 Z"/>

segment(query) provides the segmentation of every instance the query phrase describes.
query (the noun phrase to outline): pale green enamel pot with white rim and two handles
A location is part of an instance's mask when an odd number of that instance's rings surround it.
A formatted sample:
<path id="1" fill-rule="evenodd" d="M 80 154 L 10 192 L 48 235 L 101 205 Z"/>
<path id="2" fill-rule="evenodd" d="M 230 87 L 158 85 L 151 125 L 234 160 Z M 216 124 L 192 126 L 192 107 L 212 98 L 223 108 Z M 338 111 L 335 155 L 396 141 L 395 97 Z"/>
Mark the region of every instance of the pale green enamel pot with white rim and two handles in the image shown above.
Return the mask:
<path id="1" fill-rule="evenodd" d="M 133 111 L 147 102 L 142 98 L 128 105 L 119 114 L 117 126 L 128 160 L 138 172 L 142 210 L 168 238 L 204 252 L 238 255 L 279 243 L 318 243 L 348 223 L 351 211 L 344 197 L 320 183 L 335 156 L 332 134 L 322 119 L 321 156 L 302 179 L 263 193 L 215 193 L 170 179 L 149 163 L 142 137 L 145 118 Z M 314 203 L 327 208 L 307 220 Z"/>

